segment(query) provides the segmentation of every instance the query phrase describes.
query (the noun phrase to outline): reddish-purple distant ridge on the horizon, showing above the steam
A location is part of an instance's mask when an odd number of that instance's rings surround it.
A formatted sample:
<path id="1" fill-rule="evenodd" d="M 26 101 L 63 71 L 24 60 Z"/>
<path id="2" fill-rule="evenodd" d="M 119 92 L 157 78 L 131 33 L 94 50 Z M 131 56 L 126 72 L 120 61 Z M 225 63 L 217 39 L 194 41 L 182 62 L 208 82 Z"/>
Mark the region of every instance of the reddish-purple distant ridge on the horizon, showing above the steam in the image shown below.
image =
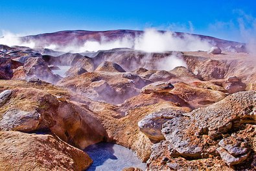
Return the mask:
<path id="1" fill-rule="evenodd" d="M 160 30 L 159 32 L 166 32 Z M 130 36 L 134 38 L 137 35 L 143 34 L 144 31 L 141 30 L 106 30 L 106 31 L 91 31 L 91 30 L 64 30 L 52 33 L 38 34 L 38 35 L 27 35 L 21 37 L 23 41 L 36 41 L 36 46 L 45 46 L 50 44 L 56 44 L 60 46 L 69 45 L 69 43 L 75 43 L 77 45 L 82 45 L 88 40 L 100 41 L 101 37 L 104 36 L 108 40 L 119 39 L 125 36 Z M 174 32 L 176 36 L 183 38 L 185 34 L 183 32 Z M 244 45 L 244 43 L 239 43 L 235 41 L 227 41 L 224 39 L 218 39 L 216 37 L 211 37 L 207 35 L 189 34 L 200 37 L 202 40 L 209 40 L 213 42 L 216 46 L 225 48 L 227 46 L 237 46 Z"/>

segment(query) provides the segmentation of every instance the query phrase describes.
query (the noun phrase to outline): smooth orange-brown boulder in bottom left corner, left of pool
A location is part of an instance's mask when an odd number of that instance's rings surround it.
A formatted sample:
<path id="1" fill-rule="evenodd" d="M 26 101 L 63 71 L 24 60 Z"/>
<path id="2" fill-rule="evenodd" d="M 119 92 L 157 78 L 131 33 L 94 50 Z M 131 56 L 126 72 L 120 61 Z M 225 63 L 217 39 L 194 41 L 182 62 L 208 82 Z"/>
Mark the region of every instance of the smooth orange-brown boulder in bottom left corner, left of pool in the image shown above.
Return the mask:
<path id="1" fill-rule="evenodd" d="M 56 136 L 0 132 L 0 170 L 75 171 L 85 170 L 92 162 L 82 150 Z"/>

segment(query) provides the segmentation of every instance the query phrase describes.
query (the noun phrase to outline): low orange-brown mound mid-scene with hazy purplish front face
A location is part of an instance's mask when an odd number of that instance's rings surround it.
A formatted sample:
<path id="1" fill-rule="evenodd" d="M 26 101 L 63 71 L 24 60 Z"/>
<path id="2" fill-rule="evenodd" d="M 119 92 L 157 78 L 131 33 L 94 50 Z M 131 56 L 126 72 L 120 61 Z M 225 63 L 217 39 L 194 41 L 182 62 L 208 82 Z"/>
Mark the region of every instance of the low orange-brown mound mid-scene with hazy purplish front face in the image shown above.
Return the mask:
<path id="1" fill-rule="evenodd" d="M 152 83 L 134 74 L 115 71 L 95 71 L 66 77 L 58 85 L 73 88 L 78 94 L 96 101 L 119 104 L 138 95 L 140 88 Z"/>

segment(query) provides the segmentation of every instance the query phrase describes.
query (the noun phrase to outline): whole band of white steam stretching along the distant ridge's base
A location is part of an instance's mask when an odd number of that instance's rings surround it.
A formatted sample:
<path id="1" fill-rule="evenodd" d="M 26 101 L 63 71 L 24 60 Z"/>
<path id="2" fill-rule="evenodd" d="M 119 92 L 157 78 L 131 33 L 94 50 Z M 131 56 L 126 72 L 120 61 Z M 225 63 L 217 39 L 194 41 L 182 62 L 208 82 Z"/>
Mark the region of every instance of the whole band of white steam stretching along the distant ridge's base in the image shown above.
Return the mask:
<path id="1" fill-rule="evenodd" d="M 3 37 L 0 38 L 1 45 L 8 46 L 28 46 L 35 48 L 37 42 L 29 41 L 22 42 L 19 35 L 3 32 Z M 98 50 L 110 50 L 113 48 L 133 48 L 135 50 L 143 50 L 145 52 L 167 52 L 167 51 L 207 51 L 211 48 L 211 42 L 202 40 L 200 37 L 191 34 L 184 34 L 183 37 L 177 36 L 174 32 L 158 32 L 155 29 L 146 29 L 144 34 L 138 35 L 135 38 L 124 36 L 115 40 L 108 40 L 104 35 L 100 41 L 86 41 L 84 45 L 79 46 L 76 40 L 67 46 L 59 46 L 49 44 L 43 48 L 51 48 L 62 52 L 95 52 Z"/>

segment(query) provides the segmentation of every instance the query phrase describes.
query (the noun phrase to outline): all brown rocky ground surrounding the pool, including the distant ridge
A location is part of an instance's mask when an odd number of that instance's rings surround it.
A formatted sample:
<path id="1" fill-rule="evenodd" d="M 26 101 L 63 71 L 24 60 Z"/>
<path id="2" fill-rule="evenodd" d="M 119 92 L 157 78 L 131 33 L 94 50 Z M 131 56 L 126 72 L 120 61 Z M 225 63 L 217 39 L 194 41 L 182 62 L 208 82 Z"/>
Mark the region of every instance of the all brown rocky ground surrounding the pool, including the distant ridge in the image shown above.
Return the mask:
<path id="1" fill-rule="evenodd" d="M 72 36 L 84 43 L 100 32 L 22 39 L 67 45 Z M 256 58 L 213 41 L 208 52 L 0 45 L 0 170 L 86 170 L 83 150 L 99 142 L 131 149 L 146 170 L 256 170 Z M 184 65 L 163 69 L 173 56 Z"/>

